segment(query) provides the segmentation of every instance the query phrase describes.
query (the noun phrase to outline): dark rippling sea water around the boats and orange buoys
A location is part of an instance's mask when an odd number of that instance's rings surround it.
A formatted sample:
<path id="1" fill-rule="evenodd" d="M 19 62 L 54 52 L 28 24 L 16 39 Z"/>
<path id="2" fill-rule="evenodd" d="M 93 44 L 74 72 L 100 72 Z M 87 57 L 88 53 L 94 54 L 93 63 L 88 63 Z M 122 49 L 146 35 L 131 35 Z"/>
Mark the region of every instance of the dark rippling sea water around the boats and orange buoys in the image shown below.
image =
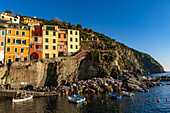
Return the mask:
<path id="1" fill-rule="evenodd" d="M 83 95 L 90 101 L 87 105 L 69 103 L 67 96 L 34 98 L 21 103 L 0 99 L 0 113 L 170 113 L 170 85 L 167 85 L 170 82 L 162 83 L 163 86 L 150 88 L 147 93 L 135 92 L 134 102 L 129 97 L 115 100 L 108 94 Z"/>

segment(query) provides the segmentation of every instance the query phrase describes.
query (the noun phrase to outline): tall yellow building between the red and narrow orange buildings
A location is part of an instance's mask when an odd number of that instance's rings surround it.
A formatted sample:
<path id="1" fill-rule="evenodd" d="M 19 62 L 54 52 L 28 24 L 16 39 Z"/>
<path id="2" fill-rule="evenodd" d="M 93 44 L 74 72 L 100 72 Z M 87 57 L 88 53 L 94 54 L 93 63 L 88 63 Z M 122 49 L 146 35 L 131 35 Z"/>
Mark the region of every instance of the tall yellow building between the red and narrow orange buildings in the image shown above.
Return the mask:
<path id="1" fill-rule="evenodd" d="M 42 27 L 43 36 L 43 59 L 58 57 L 58 26 L 44 25 Z"/>

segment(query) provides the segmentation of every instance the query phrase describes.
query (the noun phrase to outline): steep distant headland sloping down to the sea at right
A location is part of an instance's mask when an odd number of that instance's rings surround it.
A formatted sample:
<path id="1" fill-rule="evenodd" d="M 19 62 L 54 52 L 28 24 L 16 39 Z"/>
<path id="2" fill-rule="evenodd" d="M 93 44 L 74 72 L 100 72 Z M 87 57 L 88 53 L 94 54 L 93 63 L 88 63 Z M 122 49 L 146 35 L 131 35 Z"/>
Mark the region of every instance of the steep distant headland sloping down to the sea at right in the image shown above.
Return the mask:
<path id="1" fill-rule="evenodd" d="M 163 67 L 148 54 L 136 51 L 119 42 L 117 42 L 117 49 L 120 55 L 119 65 L 123 70 L 136 74 L 164 72 Z"/>

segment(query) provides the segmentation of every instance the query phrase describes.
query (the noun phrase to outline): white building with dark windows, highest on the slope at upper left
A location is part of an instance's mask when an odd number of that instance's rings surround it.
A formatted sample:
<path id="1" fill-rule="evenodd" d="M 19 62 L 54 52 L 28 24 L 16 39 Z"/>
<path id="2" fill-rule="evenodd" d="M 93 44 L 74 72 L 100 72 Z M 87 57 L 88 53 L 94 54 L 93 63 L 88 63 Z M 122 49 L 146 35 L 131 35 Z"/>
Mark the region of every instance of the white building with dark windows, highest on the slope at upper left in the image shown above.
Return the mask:
<path id="1" fill-rule="evenodd" d="M 9 20 L 11 23 L 14 23 L 14 24 L 19 24 L 19 22 L 20 22 L 19 15 L 14 15 L 14 14 L 4 13 L 4 12 L 0 13 L 0 19 L 1 20 Z"/>

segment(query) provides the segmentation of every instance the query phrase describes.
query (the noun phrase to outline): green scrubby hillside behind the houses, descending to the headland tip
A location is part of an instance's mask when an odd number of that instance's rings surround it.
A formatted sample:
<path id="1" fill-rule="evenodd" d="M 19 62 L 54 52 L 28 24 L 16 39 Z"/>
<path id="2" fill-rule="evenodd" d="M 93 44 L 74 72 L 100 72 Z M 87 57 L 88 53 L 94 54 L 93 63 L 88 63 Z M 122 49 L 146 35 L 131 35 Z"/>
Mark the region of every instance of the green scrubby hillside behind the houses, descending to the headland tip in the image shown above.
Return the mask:
<path id="1" fill-rule="evenodd" d="M 21 16 L 21 15 L 20 15 Z M 24 16 L 21 16 L 21 23 Z M 60 28 L 77 29 L 80 31 L 81 49 L 109 49 L 117 48 L 119 53 L 119 65 L 122 71 L 134 72 L 136 74 L 144 73 L 159 73 L 164 72 L 163 67 L 154 60 L 150 55 L 139 52 L 135 49 L 116 42 L 115 39 L 93 31 L 91 28 L 82 28 L 81 24 L 72 25 L 70 22 L 59 21 L 56 19 L 45 20 L 37 18 L 42 21 L 41 25 L 58 25 Z M 88 39 L 88 41 L 87 41 Z M 99 41 L 94 41 L 99 39 Z M 90 41 L 89 41 L 90 40 Z M 93 41 L 92 41 L 93 40 Z"/>

